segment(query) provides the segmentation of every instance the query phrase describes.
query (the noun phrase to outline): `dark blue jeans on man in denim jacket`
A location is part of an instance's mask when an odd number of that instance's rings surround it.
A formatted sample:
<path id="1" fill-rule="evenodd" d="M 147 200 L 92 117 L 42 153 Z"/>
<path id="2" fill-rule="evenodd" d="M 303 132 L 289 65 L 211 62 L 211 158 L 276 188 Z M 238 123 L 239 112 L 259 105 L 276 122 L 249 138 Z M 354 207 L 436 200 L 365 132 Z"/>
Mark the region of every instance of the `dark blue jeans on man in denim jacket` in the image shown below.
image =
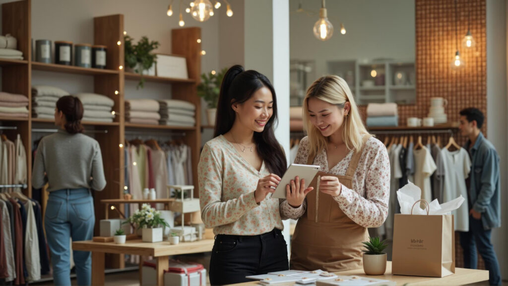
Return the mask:
<path id="1" fill-rule="evenodd" d="M 469 216 L 469 232 L 460 233 L 460 245 L 464 249 L 464 268 L 477 269 L 478 250 L 489 270 L 489 283 L 501 285 L 501 271 L 494 246 L 490 243 L 491 230 L 484 230 L 482 220 Z"/>

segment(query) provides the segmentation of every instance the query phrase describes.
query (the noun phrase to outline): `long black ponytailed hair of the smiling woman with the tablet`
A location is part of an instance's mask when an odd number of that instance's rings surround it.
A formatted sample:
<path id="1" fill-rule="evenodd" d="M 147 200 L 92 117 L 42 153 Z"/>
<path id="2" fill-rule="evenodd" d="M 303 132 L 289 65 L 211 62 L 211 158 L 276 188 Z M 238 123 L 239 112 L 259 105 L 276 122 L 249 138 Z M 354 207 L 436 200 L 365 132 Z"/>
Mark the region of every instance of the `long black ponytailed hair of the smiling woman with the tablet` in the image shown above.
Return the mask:
<path id="1" fill-rule="evenodd" d="M 233 127 L 236 113 L 231 105 L 244 103 L 263 87 L 268 88 L 272 93 L 273 115 L 263 132 L 254 132 L 254 141 L 258 155 L 270 172 L 282 177 L 288 164 L 284 151 L 273 132 L 273 126 L 277 122 L 277 98 L 270 80 L 263 74 L 253 70 L 245 71 L 240 65 L 235 65 L 226 72 L 220 85 L 214 137 L 226 134 Z"/>

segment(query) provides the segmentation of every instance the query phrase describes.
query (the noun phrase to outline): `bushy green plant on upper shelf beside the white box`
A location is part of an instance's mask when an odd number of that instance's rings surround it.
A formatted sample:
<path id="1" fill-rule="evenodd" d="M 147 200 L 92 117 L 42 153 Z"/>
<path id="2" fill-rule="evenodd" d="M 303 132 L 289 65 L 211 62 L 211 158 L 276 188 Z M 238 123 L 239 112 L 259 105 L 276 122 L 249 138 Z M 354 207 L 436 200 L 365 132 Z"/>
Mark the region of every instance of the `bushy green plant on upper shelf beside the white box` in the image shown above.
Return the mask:
<path id="1" fill-rule="evenodd" d="M 134 72 L 141 74 L 141 80 L 138 83 L 138 89 L 144 88 L 145 79 L 143 71 L 152 67 L 156 63 L 156 54 L 152 51 L 160 46 L 158 41 L 150 41 L 148 37 L 143 36 L 137 44 L 129 35 L 123 36 L 125 51 L 125 66 L 134 69 Z M 138 65 L 139 64 L 139 65 Z"/>

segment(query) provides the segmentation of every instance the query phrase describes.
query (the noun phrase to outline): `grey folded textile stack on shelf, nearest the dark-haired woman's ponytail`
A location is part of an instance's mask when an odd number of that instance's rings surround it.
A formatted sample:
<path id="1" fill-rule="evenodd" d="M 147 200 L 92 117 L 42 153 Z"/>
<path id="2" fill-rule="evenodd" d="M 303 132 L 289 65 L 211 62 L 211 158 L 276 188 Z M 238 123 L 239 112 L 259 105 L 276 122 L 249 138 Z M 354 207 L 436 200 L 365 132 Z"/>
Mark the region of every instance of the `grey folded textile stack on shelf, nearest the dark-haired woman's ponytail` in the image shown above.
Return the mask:
<path id="1" fill-rule="evenodd" d="M 196 105 L 183 100 L 167 99 L 159 100 L 161 125 L 171 126 L 195 126 Z"/>

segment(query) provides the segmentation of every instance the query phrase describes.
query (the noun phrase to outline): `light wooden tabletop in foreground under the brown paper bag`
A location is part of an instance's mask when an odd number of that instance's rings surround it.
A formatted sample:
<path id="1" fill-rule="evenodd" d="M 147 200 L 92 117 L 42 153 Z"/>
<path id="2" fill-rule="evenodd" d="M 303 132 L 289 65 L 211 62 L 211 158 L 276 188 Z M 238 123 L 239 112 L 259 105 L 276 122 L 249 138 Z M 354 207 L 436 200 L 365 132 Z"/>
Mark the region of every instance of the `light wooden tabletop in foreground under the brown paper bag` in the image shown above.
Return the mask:
<path id="1" fill-rule="evenodd" d="M 389 261 L 386 266 L 385 275 L 379 276 L 369 276 L 365 275 L 363 269 L 350 270 L 350 271 L 341 271 L 335 272 L 337 275 L 346 275 L 346 276 L 363 276 L 369 278 L 377 278 L 377 279 L 385 279 L 397 282 L 397 285 L 464 285 L 470 283 L 476 283 L 480 281 L 489 280 L 489 271 L 487 270 L 475 270 L 475 269 L 464 269 L 464 268 L 455 268 L 455 274 L 450 276 L 435 278 L 435 277 L 420 277 L 420 276 L 402 276 L 402 275 L 392 275 L 392 262 Z M 287 286 L 294 285 L 295 283 L 279 283 L 277 285 Z M 246 282 L 246 283 L 238 283 L 234 285 L 256 285 L 258 286 L 257 281 Z"/>

